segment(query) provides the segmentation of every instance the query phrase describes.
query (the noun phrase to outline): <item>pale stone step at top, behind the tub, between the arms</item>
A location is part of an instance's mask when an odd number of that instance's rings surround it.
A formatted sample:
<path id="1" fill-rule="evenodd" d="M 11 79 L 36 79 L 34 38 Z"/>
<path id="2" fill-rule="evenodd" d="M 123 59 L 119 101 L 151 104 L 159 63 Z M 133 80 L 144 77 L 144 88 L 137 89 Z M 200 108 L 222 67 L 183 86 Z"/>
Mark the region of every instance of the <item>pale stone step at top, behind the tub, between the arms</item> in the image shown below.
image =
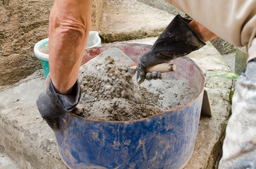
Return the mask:
<path id="1" fill-rule="evenodd" d="M 136 0 L 105 1 L 100 36 L 105 43 L 156 37 L 173 18 L 171 13 Z"/>

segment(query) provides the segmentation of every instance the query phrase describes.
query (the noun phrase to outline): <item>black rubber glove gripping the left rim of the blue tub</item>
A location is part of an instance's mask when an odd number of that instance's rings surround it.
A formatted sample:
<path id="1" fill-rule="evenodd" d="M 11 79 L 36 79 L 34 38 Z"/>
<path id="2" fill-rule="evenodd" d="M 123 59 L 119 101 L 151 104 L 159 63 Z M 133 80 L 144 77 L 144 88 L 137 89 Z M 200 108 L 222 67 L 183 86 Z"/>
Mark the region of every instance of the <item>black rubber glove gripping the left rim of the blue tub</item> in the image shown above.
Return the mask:
<path id="1" fill-rule="evenodd" d="M 81 89 L 78 80 L 73 85 L 70 95 L 58 94 L 50 80 L 46 92 L 39 95 L 37 99 L 38 111 L 54 132 L 59 130 L 57 118 L 75 108 L 80 100 L 80 94 Z"/>

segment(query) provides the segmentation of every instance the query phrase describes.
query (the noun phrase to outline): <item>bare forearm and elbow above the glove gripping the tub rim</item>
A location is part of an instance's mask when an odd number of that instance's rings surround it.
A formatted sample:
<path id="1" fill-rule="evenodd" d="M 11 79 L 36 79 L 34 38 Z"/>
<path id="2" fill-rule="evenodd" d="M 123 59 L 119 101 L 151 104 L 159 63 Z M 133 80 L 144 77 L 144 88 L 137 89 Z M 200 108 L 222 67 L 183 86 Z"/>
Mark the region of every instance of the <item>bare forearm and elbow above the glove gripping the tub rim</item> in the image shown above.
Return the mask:
<path id="1" fill-rule="evenodd" d="M 91 25 L 92 0 L 56 0 L 49 19 L 49 68 L 56 92 L 77 80 Z"/>

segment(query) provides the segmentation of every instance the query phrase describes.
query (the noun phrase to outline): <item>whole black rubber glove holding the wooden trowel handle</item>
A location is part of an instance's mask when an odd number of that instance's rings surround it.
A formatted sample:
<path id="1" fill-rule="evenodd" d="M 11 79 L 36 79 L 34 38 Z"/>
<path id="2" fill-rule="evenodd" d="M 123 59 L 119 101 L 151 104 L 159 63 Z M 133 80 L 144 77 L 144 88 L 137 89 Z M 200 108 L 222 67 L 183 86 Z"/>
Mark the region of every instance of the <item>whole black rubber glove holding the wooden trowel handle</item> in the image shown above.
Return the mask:
<path id="1" fill-rule="evenodd" d="M 190 54 L 191 51 L 200 49 L 205 46 L 205 42 L 200 35 L 193 30 L 188 23 L 191 20 L 182 18 L 181 15 L 176 15 L 171 23 L 161 33 L 154 45 L 140 58 L 138 62 L 137 82 L 144 82 L 146 69 L 152 65 L 160 63 L 168 63 L 174 58 Z M 147 78 L 156 79 L 159 73 L 147 75 Z"/>

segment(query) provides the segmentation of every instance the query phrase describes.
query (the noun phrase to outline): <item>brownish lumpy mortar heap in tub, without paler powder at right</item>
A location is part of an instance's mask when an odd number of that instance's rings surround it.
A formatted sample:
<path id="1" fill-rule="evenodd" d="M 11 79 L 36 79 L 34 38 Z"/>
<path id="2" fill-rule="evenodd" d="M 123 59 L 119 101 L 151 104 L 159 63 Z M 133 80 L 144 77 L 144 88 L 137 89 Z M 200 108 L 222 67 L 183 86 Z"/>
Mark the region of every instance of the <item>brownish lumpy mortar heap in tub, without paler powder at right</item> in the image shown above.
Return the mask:
<path id="1" fill-rule="evenodd" d="M 133 81 L 135 71 L 134 67 L 116 63 L 104 54 L 83 65 L 78 76 L 81 99 L 73 113 L 90 120 L 125 121 L 162 112 L 150 105 L 159 96 L 140 89 Z"/>

